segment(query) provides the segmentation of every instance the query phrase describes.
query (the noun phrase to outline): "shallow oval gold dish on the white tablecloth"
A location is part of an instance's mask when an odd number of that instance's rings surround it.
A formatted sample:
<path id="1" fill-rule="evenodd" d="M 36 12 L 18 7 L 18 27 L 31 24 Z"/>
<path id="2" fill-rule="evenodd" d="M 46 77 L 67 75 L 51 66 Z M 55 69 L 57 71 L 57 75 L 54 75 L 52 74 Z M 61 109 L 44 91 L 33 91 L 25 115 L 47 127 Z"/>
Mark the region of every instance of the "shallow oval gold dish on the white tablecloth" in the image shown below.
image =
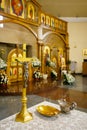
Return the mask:
<path id="1" fill-rule="evenodd" d="M 45 116 L 55 116 L 60 113 L 60 110 L 56 109 L 55 107 L 48 106 L 48 105 L 40 105 L 36 109 L 40 114 Z"/>

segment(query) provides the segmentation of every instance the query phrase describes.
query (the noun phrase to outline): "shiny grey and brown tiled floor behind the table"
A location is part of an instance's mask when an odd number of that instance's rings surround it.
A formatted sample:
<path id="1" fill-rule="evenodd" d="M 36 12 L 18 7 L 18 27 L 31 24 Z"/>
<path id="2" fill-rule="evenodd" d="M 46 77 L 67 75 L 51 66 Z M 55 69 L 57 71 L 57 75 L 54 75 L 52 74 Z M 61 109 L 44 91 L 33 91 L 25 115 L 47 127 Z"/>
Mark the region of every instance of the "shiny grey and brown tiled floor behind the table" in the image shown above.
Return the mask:
<path id="1" fill-rule="evenodd" d="M 78 109 L 87 112 L 87 77 L 77 75 L 75 78 L 72 86 L 63 85 L 61 80 L 30 82 L 27 88 L 28 107 L 43 100 L 57 103 L 58 99 L 66 98 L 69 102 L 77 102 Z M 20 111 L 22 87 L 22 83 L 16 83 L 8 86 L 7 90 L 0 90 L 0 120 Z"/>

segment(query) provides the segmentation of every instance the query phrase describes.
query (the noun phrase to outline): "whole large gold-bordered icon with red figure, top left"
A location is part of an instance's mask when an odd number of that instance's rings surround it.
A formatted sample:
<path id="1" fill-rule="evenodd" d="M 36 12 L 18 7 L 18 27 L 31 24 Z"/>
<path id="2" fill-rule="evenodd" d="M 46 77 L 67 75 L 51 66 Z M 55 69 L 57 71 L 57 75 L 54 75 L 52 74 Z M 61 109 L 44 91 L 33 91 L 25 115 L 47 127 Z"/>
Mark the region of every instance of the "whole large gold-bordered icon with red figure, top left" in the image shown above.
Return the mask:
<path id="1" fill-rule="evenodd" d="M 10 0 L 10 13 L 24 18 L 24 1 Z"/>

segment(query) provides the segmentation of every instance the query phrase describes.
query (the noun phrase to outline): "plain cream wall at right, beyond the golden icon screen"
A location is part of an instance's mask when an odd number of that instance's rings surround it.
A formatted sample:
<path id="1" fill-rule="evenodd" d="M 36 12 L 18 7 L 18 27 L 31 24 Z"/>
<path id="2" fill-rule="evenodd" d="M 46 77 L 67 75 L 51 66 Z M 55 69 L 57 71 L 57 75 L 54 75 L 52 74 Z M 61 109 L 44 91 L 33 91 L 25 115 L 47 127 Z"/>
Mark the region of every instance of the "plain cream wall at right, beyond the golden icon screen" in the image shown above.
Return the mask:
<path id="1" fill-rule="evenodd" d="M 76 61 L 76 73 L 82 73 L 83 49 L 87 49 L 87 22 L 68 23 L 70 59 Z"/>

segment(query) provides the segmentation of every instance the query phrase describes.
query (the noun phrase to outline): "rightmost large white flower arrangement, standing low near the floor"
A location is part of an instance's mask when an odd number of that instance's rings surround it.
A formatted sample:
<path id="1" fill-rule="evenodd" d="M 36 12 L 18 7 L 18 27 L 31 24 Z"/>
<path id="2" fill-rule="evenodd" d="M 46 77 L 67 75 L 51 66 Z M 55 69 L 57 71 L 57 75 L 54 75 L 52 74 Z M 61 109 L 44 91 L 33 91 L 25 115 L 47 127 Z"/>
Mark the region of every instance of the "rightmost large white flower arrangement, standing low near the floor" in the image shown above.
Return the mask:
<path id="1" fill-rule="evenodd" d="M 75 82 L 75 78 L 67 71 L 63 71 L 63 84 L 71 85 Z"/>

